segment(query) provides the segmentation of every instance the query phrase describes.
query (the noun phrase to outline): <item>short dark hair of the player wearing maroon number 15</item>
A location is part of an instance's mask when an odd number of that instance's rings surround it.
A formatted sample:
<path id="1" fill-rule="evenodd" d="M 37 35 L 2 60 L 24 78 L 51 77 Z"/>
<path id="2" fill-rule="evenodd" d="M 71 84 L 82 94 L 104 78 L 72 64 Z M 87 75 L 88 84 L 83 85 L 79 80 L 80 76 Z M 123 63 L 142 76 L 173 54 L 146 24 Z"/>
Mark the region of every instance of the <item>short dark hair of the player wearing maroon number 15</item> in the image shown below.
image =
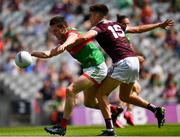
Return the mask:
<path id="1" fill-rule="evenodd" d="M 106 16 L 109 12 L 109 9 L 104 4 L 95 4 L 95 5 L 92 5 L 89 7 L 89 11 L 90 12 L 98 12 L 98 13 L 101 13 Z"/>

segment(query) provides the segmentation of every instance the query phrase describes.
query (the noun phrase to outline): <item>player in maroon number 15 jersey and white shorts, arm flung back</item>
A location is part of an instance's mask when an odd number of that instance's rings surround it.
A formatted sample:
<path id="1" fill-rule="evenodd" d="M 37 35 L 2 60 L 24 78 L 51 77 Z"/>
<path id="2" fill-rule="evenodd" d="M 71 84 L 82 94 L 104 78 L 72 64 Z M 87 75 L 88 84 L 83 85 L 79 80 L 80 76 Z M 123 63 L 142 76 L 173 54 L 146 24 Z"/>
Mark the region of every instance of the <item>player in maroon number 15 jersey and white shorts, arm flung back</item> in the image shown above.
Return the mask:
<path id="1" fill-rule="evenodd" d="M 104 4 L 90 6 L 90 20 L 94 27 L 83 34 L 78 40 L 78 42 L 83 42 L 84 40 L 95 38 L 113 61 L 113 65 L 109 69 L 109 75 L 102 82 L 97 94 L 99 106 L 107 128 L 101 135 L 115 135 L 106 95 L 119 85 L 120 99 L 126 103 L 152 111 L 157 118 L 158 127 L 161 127 L 165 122 L 165 109 L 155 106 L 135 94 L 130 94 L 135 80 L 139 77 L 139 60 L 132 50 L 125 32 L 141 33 L 158 27 L 167 28 L 173 25 L 173 21 L 168 19 L 162 23 L 127 27 L 126 25 L 107 20 L 107 14 L 108 8 Z"/>

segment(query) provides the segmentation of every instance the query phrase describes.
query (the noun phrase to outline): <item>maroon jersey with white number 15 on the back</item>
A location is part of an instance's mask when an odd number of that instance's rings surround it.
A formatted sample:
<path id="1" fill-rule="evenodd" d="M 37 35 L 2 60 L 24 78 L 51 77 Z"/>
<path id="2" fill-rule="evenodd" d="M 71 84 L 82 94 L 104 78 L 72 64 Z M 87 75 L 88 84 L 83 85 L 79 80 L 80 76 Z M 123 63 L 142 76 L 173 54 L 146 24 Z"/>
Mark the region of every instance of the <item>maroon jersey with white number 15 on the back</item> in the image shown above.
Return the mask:
<path id="1" fill-rule="evenodd" d="M 95 39 L 112 58 L 113 62 L 136 55 L 125 36 L 126 26 L 117 22 L 102 20 L 92 30 L 98 32 Z"/>

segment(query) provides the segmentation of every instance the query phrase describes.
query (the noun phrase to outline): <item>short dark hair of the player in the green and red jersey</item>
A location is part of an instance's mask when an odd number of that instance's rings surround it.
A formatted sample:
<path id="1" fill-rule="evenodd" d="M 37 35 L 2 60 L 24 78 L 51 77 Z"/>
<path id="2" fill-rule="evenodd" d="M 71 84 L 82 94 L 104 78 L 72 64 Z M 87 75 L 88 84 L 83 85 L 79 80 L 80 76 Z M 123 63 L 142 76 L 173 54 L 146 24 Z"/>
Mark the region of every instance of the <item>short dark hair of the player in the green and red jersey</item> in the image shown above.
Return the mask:
<path id="1" fill-rule="evenodd" d="M 58 26 L 64 26 L 65 25 L 65 26 L 68 26 L 65 18 L 62 17 L 62 16 L 53 17 L 50 20 L 49 25 L 50 26 L 53 26 L 53 25 L 58 25 Z"/>

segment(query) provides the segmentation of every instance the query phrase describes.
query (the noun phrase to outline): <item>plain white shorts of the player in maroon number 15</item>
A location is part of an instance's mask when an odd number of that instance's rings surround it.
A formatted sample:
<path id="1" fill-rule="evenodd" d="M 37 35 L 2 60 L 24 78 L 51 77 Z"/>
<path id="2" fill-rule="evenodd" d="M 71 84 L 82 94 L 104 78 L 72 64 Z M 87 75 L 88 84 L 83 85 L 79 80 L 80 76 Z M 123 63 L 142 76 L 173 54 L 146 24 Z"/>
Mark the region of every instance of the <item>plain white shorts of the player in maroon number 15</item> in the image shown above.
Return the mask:
<path id="1" fill-rule="evenodd" d="M 139 79 L 139 60 L 137 57 L 127 57 L 114 63 L 108 75 L 123 83 L 134 83 Z"/>

